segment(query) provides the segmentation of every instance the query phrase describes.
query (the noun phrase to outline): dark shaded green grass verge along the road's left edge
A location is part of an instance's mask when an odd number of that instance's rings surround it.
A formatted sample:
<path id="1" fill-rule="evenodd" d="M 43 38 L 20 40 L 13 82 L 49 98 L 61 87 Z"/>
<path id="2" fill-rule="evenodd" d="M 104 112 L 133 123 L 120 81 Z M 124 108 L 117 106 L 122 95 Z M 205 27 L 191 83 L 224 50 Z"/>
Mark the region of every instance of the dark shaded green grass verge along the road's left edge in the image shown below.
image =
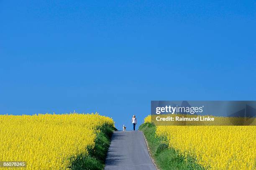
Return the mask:
<path id="1" fill-rule="evenodd" d="M 110 138 L 116 129 L 108 124 L 104 124 L 98 129 L 100 129 L 100 133 L 97 133 L 95 147 L 87 147 L 89 155 L 79 155 L 69 168 L 72 170 L 103 170 Z"/>

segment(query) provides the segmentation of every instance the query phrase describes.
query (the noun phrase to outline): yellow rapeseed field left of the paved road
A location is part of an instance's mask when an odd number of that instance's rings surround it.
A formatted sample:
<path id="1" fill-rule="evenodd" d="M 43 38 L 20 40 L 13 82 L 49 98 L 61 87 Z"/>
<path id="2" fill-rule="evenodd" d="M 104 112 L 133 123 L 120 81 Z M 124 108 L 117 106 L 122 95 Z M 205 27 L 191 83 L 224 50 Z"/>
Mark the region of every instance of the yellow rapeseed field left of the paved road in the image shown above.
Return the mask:
<path id="1" fill-rule="evenodd" d="M 103 124 L 114 122 L 99 114 L 0 115 L 0 161 L 26 161 L 28 170 L 67 169 L 71 157 L 88 154 Z"/>

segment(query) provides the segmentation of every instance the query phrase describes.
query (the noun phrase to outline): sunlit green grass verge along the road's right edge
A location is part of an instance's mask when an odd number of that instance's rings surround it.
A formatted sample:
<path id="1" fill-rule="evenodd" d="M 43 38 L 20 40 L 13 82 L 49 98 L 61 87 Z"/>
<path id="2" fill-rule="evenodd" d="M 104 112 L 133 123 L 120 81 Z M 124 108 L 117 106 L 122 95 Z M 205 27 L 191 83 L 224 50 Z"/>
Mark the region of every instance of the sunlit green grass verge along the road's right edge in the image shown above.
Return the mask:
<path id="1" fill-rule="evenodd" d="M 179 152 L 156 137 L 156 126 L 153 123 L 141 124 L 139 130 L 144 133 L 151 155 L 160 170 L 204 170 L 192 157 L 185 160 Z"/>

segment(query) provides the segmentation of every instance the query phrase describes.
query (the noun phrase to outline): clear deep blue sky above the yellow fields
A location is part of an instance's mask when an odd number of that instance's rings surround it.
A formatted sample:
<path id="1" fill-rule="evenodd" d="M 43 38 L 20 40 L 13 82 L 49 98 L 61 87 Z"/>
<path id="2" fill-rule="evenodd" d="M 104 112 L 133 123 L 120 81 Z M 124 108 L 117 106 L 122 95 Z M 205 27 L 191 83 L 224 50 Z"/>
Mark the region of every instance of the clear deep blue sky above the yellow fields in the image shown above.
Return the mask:
<path id="1" fill-rule="evenodd" d="M 0 114 L 256 100 L 255 1 L 0 1 Z"/>

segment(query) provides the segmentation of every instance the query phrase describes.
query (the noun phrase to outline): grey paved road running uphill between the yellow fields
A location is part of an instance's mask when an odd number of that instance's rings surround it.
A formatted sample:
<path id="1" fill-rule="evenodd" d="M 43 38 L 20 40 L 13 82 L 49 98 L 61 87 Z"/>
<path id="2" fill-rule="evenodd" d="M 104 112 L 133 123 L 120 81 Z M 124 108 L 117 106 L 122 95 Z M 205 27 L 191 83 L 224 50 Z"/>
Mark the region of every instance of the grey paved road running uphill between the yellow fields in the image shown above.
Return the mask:
<path id="1" fill-rule="evenodd" d="M 105 170 L 156 170 L 141 131 L 115 131 Z"/>

